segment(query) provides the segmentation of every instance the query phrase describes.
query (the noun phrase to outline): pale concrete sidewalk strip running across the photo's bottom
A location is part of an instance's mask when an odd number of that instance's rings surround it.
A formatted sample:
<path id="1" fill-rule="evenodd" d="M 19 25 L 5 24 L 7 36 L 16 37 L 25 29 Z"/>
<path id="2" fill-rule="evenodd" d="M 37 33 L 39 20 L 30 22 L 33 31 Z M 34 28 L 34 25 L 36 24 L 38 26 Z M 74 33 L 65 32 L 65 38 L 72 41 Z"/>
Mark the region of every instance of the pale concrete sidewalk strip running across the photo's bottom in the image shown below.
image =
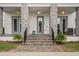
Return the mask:
<path id="1" fill-rule="evenodd" d="M 0 56 L 79 56 L 79 52 L 0 52 Z"/>

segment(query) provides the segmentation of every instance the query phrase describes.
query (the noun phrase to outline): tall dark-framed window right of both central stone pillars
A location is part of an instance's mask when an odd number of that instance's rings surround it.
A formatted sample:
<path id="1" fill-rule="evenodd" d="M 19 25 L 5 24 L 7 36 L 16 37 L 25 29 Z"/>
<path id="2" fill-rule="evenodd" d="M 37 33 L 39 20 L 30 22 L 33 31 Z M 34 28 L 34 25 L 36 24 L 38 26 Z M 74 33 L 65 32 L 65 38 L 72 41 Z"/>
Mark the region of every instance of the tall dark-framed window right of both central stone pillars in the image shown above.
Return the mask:
<path id="1" fill-rule="evenodd" d="M 63 34 L 67 34 L 68 31 L 68 17 L 67 16 L 59 16 L 60 22 L 58 25 L 58 32 L 62 32 Z"/>

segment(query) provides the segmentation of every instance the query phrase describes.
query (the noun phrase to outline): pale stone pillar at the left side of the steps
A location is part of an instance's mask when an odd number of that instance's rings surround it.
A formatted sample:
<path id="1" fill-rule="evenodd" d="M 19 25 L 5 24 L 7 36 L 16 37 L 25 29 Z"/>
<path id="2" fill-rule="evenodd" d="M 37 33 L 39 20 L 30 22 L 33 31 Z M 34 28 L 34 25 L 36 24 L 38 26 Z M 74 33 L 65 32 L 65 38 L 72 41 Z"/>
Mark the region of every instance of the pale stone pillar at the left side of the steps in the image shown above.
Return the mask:
<path id="1" fill-rule="evenodd" d="M 28 20 L 29 20 L 28 4 L 23 3 L 21 6 L 21 34 L 23 37 L 24 37 L 24 32 L 26 28 L 27 28 L 27 35 L 28 35 Z"/>

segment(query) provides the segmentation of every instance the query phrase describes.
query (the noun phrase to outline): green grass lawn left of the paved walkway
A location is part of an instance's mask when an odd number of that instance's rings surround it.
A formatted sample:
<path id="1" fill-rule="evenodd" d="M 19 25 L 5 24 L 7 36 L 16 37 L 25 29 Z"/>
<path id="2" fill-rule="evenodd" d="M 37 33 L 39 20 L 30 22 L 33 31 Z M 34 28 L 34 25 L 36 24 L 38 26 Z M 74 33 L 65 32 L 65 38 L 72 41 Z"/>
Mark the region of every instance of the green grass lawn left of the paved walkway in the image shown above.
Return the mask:
<path id="1" fill-rule="evenodd" d="M 0 42 L 0 52 L 6 52 L 14 48 L 17 48 L 17 44 Z"/>

